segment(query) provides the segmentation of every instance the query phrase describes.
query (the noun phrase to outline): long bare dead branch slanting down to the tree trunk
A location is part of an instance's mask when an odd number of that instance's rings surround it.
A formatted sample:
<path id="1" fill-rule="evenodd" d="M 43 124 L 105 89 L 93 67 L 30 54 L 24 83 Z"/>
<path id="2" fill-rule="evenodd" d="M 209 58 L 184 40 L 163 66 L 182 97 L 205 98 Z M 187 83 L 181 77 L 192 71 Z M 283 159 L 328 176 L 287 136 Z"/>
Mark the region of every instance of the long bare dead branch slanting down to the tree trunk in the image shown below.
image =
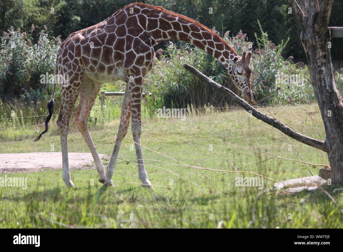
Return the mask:
<path id="1" fill-rule="evenodd" d="M 273 126 L 274 128 L 280 130 L 281 132 L 285 133 L 286 135 L 294 138 L 295 140 L 297 140 L 301 143 L 307 144 L 307 145 L 315 147 L 317 149 L 321 149 L 324 152 L 328 152 L 328 148 L 323 141 L 320 141 L 320 140 L 314 139 L 312 137 L 300 134 L 300 133 L 292 130 L 291 128 L 287 127 L 286 125 L 281 123 L 279 120 L 276 120 L 274 118 L 271 118 L 267 115 L 262 114 L 261 112 L 259 112 L 255 108 L 253 108 L 251 105 L 246 103 L 243 99 L 238 97 L 230 89 L 223 87 L 222 85 L 219 85 L 218 83 L 216 83 L 215 81 L 213 81 L 212 79 L 210 79 L 209 77 L 207 77 L 206 75 L 201 73 L 198 69 L 196 69 L 193 66 L 188 65 L 188 64 L 184 64 L 183 66 L 187 71 L 196 75 L 200 80 L 211 85 L 212 87 L 215 87 L 216 89 L 218 89 L 218 91 L 220 91 L 224 95 L 231 98 L 235 103 L 237 103 L 239 106 L 244 108 L 246 111 L 250 112 L 257 119 L 259 119 L 265 123 L 268 123 L 269 125 Z"/>

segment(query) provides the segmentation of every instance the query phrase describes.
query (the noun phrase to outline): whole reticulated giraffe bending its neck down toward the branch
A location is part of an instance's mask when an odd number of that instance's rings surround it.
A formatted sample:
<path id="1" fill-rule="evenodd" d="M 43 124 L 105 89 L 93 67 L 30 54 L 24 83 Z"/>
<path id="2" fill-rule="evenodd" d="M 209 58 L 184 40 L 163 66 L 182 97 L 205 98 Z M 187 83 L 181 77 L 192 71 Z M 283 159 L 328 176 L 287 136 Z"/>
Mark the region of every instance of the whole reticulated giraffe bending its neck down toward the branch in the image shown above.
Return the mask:
<path id="1" fill-rule="evenodd" d="M 252 101 L 249 68 L 251 52 L 242 57 L 208 27 L 189 17 L 144 3 L 133 3 L 118 10 L 104 21 L 70 34 L 60 45 L 56 59 L 56 73 L 69 78 L 61 83 L 61 108 L 57 119 L 62 149 L 62 179 L 67 187 L 74 187 L 68 164 L 67 137 L 69 122 L 80 95 L 80 103 L 73 122 L 81 132 L 94 158 L 99 182 L 113 186 L 115 162 L 131 118 L 131 131 L 135 143 L 138 177 L 143 187 L 150 187 L 144 168 L 140 137 L 142 134 L 141 100 L 143 80 L 154 62 L 154 48 L 166 39 L 183 40 L 208 52 L 227 69 L 229 77 L 243 92 L 248 102 Z M 106 172 L 93 140 L 87 121 L 102 83 L 118 80 L 126 82 L 119 129 L 114 149 Z M 45 130 L 54 110 L 54 91 L 48 102 Z"/>

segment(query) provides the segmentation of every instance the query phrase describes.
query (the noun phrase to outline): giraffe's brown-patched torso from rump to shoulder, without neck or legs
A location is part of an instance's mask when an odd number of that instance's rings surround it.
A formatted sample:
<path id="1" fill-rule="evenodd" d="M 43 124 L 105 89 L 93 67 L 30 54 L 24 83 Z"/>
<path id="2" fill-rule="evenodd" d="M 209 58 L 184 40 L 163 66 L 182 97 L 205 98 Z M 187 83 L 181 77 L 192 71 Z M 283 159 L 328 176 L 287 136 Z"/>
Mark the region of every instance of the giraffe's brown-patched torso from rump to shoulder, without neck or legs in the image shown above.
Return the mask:
<path id="1" fill-rule="evenodd" d="M 101 83 L 145 75 L 152 68 L 154 49 L 146 16 L 130 15 L 126 8 L 104 21 L 74 32 L 58 53 L 59 72 L 81 71 Z M 144 77 L 144 76 L 143 76 Z"/>

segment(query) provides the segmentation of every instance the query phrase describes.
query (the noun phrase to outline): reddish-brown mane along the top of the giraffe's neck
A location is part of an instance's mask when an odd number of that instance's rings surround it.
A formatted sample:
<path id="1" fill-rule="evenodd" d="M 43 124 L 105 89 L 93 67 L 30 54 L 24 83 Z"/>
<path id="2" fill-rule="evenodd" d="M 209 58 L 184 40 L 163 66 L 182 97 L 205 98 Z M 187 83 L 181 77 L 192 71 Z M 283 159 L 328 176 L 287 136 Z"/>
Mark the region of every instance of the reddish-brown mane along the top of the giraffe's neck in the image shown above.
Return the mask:
<path id="1" fill-rule="evenodd" d="M 149 5 L 149 4 L 145 4 L 145 3 L 130 3 L 129 5 L 125 6 L 123 9 L 129 7 L 129 6 L 132 6 L 132 5 L 138 5 L 138 6 L 143 6 L 143 7 L 146 7 L 146 8 L 149 8 L 149 9 L 153 9 L 153 10 L 157 10 L 157 11 L 162 11 L 164 13 L 167 13 L 167 14 L 170 14 L 170 15 L 174 15 L 174 16 L 177 16 L 181 19 L 184 19 L 188 22 L 191 22 L 199 27 L 201 27 L 202 29 L 204 29 L 205 31 L 211 33 L 213 35 L 213 37 L 219 39 L 224 45 L 226 45 L 229 50 L 231 50 L 235 55 L 237 55 L 237 52 L 231 47 L 229 46 L 229 44 L 227 44 L 227 42 L 221 38 L 220 36 L 218 36 L 218 34 L 216 34 L 215 32 L 213 32 L 209 27 L 203 25 L 203 24 L 200 24 L 198 21 L 194 20 L 194 19 L 191 19 L 187 16 L 184 16 L 184 15 L 180 15 L 178 13 L 175 13 L 174 11 L 169 11 L 169 10 L 166 10 L 164 9 L 162 6 L 153 6 L 153 5 Z"/>

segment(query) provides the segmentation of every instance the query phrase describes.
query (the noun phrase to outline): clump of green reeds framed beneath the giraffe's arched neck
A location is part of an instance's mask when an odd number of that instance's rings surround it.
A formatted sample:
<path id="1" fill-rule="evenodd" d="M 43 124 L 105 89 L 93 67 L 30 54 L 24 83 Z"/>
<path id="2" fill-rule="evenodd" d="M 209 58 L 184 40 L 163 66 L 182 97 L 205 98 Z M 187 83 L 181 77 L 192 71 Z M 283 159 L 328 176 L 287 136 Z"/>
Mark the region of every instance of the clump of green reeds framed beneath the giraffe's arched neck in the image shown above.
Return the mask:
<path id="1" fill-rule="evenodd" d="M 155 62 L 145 79 L 145 91 L 152 92 L 157 108 L 187 108 L 187 105 L 226 107 L 230 100 L 201 82 L 182 67 L 184 63 L 193 65 L 223 86 L 233 89 L 232 81 L 226 76 L 224 66 L 203 50 L 178 42 L 166 50 L 169 57 Z"/>

